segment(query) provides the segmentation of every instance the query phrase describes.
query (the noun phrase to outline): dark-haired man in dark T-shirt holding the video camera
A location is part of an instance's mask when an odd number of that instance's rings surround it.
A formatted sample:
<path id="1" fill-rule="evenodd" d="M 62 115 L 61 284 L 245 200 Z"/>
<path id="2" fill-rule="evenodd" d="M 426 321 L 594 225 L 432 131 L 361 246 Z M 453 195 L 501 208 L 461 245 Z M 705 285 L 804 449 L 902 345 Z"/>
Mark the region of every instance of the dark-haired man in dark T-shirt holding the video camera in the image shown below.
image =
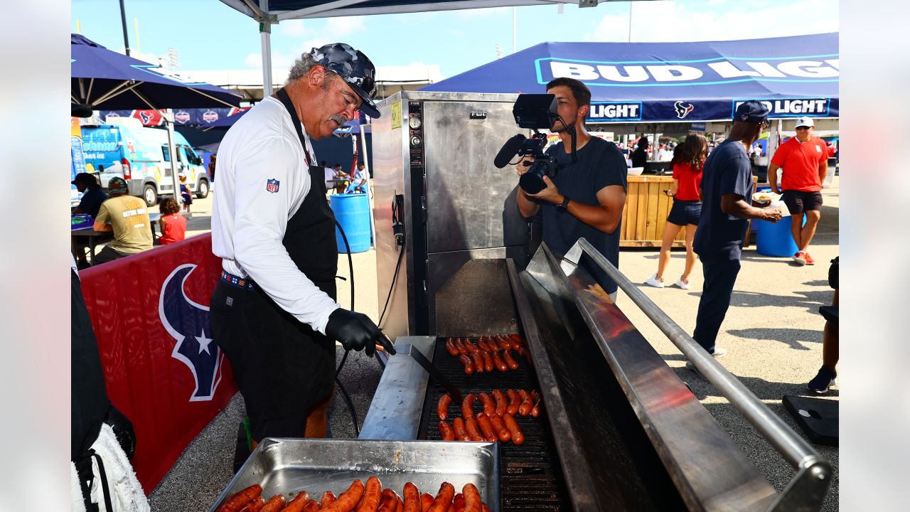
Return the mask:
<path id="1" fill-rule="evenodd" d="M 562 256 L 580 238 L 591 242 L 614 266 L 619 267 L 620 226 L 626 194 L 626 162 L 619 148 L 602 138 L 591 137 L 584 118 L 591 109 L 591 91 L 573 78 L 555 78 L 547 84 L 547 94 L 556 97 L 559 118 L 551 131 L 561 142 L 548 148 L 560 166 L 571 162 L 571 132 L 575 128 L 578 161 L 562 168 L 551 179 L 544 176 L 547 188 L 528 194 L 519 188 L 518 208 L 526 219 L 542 212 L 543 241 Z M 524 157 L 516 166 L 521 176 L 533 161 Z M 594 276 L 604 283 L 604 291 L 616 300 L 616 283 L 598 271 Z"/>

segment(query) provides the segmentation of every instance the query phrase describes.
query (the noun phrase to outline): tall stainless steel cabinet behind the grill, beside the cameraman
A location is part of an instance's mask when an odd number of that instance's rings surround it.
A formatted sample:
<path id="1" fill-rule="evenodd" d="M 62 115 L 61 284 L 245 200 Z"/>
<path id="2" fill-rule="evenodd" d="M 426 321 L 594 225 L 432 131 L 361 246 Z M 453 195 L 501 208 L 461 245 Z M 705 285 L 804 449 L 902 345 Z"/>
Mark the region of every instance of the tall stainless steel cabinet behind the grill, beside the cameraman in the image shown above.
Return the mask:
<path id="1" fill-rule="evenodd" d="M 518 177 L 511 166 L 492 164 L 508 138 L 529 133 L 512 116 L 516 97 L 402 91 L 379 105 L 382 117 L 373 124 L 377 281 L 380 312 L 386 309 L 381 327 L 390 337 L 436 333 L 437 292 L 467 261 L 509 257 L 523 268 L 530 260 L 534 241 L 518 211 Z M 415 117 L 417 128 L 409 125 Z M 406 240 L 396 274 L 391 205 L 397 194 L 405 202 Z"/>

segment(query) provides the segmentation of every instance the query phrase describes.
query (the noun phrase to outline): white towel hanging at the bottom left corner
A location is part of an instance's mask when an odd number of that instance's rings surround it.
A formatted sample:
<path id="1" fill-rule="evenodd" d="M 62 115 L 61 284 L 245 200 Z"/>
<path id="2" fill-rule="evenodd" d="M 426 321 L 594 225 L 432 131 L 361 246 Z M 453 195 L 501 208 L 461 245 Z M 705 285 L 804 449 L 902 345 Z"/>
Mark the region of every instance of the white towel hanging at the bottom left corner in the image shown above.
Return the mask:
<path id="1" fill-rule="evenodd" d="M 111 506 L 114 507 L 114 510 L 106 510 L 104 486 L 100 478 L 96 478 L 92 483 L 91 497 L 92 502 L 98 504 L 99 512 L 147 512 L 149 507 L 146 493 L 139 485 L 133 466 L 130 466 L 129 459 L 117 443 L 110 425 L 101 425 L 101 432 L 98 433 L 92 449 L 104 461 L 107 486 L 111 492 Z M 98 475 L 97 460 L 94 457 L 92 471 Z"/>

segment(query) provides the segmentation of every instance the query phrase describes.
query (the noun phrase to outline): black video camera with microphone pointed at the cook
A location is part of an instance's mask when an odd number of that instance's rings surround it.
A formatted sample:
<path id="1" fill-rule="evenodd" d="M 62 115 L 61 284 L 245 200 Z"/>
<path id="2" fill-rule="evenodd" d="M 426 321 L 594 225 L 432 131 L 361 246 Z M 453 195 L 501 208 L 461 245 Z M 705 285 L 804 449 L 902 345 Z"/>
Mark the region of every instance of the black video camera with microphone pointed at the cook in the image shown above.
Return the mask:
<path id="1" fill-rule="evenodd" d="M 521 175 L 519 186 L 529 194 L 536 194 L 547 188 L 546 183 L 543 182 L 544 176 L 555 178 L 559 169 L 575 163 L 578 159 L 575 153 L 575 127 L 566 125 L 566 129 L 571 135 L 571 162 L 561 166 L 556 163 L 555 156 L 548 157 L 544 154 L 543 148 L 547 145 L 547 136 L 538 131 L 538 129 L 552 129 L 556 119 L 560 119 L 565 124 L 565 121 L 556 113 L 556 96 L 521 94 L 512 107 L 512 116 L 515 117 L 519 128 L 531 128 L 534 130 L 534 134 L 531 138 L 527 138 L 520 133 L 507 140 L 496 158 L 493 159 L 493 165 L 502 169 L 516 154 L 520 157 L 533 158 L 533 162 L 525 162 L 525 165 L 531 166 L 531 169 Z"/>

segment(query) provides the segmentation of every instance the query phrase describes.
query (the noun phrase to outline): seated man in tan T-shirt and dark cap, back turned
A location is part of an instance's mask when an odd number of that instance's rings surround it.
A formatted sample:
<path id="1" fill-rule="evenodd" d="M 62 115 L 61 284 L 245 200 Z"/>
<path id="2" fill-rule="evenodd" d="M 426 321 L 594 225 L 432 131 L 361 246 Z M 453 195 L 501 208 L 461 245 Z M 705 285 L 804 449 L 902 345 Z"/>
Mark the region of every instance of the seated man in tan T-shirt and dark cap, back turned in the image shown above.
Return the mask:
<path id="1" fill-rule="evenodd" d="M 152 248 L 151 220 L 146 201 L 128 195 L 126 179 L 115 176 L 107 183 L 110 199 L 101 204 L 96 231 L 114 231 L 114 240 L 92 258 L 97 265 Z M 108 224 L 110 222 L 110 224 Z"/>

